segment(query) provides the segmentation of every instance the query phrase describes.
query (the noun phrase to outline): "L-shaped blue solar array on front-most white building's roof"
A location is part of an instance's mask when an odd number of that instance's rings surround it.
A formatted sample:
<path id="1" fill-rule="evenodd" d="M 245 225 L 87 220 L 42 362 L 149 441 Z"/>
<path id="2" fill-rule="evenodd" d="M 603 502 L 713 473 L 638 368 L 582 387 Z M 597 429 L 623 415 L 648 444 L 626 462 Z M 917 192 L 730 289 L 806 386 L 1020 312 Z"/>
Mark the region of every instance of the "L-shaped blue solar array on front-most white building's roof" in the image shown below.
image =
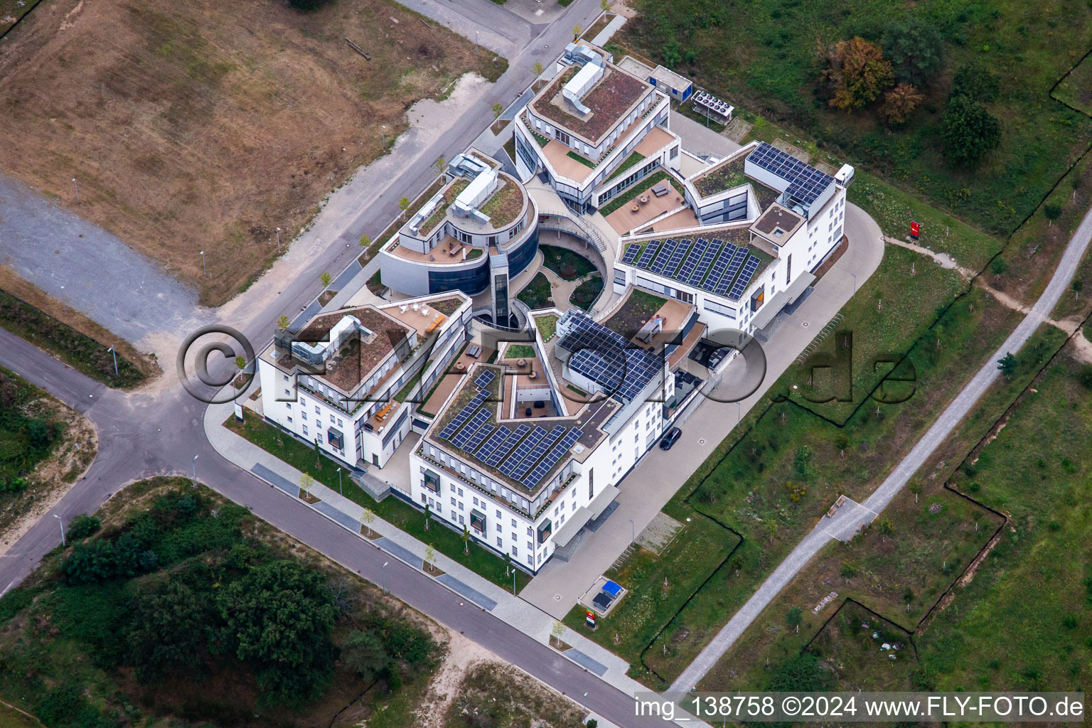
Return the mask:
<path id="1" fill-rule="evenodd" d="M 524 487 L 534 488 L 580 439 L 581 430 L 561 425 L 547 431 L 538 426 L 519 425 L 513 429 L 488 423 L 494 413 L 482 405 L 491 394 L 485 387 L 496 378 L 488 369 L 478 374 L 474 380 L 478 393 L 443 427 L 439 437 Z"/>

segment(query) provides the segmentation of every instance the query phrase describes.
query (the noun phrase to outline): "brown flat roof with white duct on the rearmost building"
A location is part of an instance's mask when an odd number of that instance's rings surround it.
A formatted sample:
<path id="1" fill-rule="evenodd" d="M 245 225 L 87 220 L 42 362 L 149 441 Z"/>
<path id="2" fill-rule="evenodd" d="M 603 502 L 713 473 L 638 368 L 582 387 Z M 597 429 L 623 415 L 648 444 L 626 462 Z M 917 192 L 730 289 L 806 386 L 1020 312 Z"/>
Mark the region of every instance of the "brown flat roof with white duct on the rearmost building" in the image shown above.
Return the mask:
<path id="1" fill-rule="evenodd" d="M 531 108 L 538 116 L 580 136 L 592 146 L 598 146 L 607 132 L 653 92 L 653 86 L 643 79 L 607 63 L 603 77 L 580 99 L 591 109 L 589 115 L 581 118 L 561 96 L 561 88 L 577 75 L 579 68 L 573 65 L 559 73 L 531 100 Z"/>

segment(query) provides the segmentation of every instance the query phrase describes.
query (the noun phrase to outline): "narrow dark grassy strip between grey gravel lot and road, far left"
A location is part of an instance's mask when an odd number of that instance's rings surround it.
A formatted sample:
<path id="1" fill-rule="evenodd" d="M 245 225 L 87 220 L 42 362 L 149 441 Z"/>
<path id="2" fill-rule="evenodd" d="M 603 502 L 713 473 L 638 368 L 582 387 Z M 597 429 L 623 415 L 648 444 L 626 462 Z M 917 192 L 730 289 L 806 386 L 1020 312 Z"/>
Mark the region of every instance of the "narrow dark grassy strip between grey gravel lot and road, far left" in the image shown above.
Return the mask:
<path id="1" fill-rule="evenodd" d="M 117 358 L 115 374 L 109 347 L 3 290 L 0 290 L 0 326 L 107 386 L 132 386 L 144 381 L 141 370 L 122 356 Z"/>

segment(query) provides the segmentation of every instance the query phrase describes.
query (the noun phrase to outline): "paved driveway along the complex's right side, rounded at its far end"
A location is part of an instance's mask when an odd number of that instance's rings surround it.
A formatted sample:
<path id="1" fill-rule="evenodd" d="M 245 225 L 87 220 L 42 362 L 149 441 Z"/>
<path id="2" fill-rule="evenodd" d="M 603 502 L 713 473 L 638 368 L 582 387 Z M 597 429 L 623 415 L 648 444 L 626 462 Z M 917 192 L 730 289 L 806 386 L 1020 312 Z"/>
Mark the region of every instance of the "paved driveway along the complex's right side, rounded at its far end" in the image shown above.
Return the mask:
<path id="1" fill-rule="evenodd" d="M 669 452 L 657 447 L 644 455 L 634 469 L 619 484 L 618 508 L 594 533 L 585 532 L 574 557 L 569 562 L 549 561 L 522 593 L 523 598 L 544 611 L 560 617 L 572 608 L 577 598 L 610 568 L 630 545 L 632 530 L 640 533 L 686 482 L 693 470 L 705 462 L 721 441 L 728 435 L 741 415 L 750 411 L 765 395 L 800 351 L 841 310 L 853 295 L 853 274 L 862 285 L 877 268 L 883 256 L 880 228 L 855 205 L 847 204 L 846 236 L 850 249 L 816 284 L 811 295 L 792 317 L 773 324 L 770 341 L 762 345 L 767 356 L 763 385 L 737 407 L 704 401 L 689 419 L 679 422 L 682 438 Z M 803 327 L 807 323 L 808 326 Z M 724 373 L 723 381 L 738 381 L 743 359 L 737 358 Z M 630 525 L 630 520 L 633 525 Z"/>

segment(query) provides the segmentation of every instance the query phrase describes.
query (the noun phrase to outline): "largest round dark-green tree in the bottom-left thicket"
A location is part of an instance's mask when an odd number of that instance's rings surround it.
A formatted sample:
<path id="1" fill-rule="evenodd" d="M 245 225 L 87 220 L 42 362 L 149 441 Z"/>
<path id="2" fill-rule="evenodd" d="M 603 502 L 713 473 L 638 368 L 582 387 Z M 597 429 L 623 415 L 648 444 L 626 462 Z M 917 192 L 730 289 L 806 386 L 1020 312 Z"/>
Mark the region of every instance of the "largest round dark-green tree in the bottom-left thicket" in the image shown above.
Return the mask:
<path id="1" fill-rule="evenodd" d="M 264 704 L 301 705 L 330 684 L 337 608 L 321 573 L 265 562 L 221 589 L 215 604 L 217 648 L 253 667 Z"/>

